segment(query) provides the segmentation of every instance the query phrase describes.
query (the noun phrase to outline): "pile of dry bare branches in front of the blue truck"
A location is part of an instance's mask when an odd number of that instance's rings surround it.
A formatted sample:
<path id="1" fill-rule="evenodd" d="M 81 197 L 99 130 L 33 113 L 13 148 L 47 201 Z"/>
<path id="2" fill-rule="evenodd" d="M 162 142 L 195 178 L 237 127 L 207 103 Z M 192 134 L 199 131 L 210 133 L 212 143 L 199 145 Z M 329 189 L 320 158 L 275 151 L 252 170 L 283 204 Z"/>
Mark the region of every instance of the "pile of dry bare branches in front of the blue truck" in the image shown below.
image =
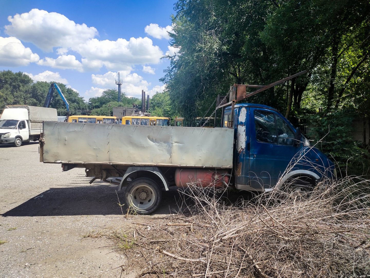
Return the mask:
<path id="1" fill-rule="evenodd" d="M 190 215 L 105 236 L 138 277 L 370 277 L 368 185 L 347 178 L 310 198 L 275 190 L 233 205 L 194 186 L 183 193 Z"/>

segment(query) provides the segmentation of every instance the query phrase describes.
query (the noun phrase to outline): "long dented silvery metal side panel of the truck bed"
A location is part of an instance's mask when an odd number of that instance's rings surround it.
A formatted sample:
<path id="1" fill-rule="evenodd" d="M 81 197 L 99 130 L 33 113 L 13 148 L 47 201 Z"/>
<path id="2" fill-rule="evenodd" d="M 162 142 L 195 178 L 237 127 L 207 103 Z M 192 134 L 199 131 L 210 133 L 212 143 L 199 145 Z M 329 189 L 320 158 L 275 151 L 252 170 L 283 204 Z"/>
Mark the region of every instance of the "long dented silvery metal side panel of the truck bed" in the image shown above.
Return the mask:
<path id="1" fill-rule="evenodd" d="M 234 130 L 44 122 L 41 161 L 232 168 Z"/>

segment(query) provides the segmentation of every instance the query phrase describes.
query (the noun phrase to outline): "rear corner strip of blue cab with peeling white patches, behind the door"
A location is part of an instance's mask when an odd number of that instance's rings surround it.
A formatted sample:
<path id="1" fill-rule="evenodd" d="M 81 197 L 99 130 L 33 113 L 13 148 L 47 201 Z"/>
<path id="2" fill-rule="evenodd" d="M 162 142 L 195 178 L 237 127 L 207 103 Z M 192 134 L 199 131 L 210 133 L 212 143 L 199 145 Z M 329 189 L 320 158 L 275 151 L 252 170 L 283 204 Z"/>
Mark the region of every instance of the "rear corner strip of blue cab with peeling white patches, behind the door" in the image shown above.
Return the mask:
<path id="1" fill-rule="evenodd" d="M 249 184 L 249 108 L 240 107 L 235 116 L 235 184 L 241 189 Z"/>

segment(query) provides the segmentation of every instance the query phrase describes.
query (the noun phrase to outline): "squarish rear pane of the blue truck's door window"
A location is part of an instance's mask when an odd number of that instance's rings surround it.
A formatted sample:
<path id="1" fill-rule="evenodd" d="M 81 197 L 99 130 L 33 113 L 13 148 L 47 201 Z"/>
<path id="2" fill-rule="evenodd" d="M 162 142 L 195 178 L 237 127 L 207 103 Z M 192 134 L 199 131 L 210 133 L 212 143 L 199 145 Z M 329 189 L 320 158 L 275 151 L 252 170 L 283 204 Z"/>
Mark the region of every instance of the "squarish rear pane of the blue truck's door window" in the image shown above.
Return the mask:
<path id="1" fill-rule="evenodd" d="M 254 118 L 257 141 L 269 144 L 277 144 L 274 114 L 255 110 Z"/>

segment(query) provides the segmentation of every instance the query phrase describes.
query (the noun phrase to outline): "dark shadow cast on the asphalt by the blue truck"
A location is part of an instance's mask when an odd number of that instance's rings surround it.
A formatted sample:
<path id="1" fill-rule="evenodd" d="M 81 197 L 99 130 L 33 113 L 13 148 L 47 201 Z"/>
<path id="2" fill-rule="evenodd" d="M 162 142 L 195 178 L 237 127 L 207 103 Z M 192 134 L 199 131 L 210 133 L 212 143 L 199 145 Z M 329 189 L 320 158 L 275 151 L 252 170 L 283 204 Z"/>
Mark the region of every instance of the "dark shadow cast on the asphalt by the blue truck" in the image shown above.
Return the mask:
<path id="1" fill-rule="evenodd" d="M 126 214 L 127 207 L 123 205 L 121 210 L 119 205 L 124 203 L 124 191 L 118 192 L 117 197 L 116 189 L 116 185 L 106 184 L 50 188 L 1 216 L 120 215 L 122 211 Z M 248 196 L 229 195 L 229 203 L 249 199 Z M 176 188 L 162 191 L 161 205 L 154 214 L 187 214 L 194 201 L 183 197 Z"/>

